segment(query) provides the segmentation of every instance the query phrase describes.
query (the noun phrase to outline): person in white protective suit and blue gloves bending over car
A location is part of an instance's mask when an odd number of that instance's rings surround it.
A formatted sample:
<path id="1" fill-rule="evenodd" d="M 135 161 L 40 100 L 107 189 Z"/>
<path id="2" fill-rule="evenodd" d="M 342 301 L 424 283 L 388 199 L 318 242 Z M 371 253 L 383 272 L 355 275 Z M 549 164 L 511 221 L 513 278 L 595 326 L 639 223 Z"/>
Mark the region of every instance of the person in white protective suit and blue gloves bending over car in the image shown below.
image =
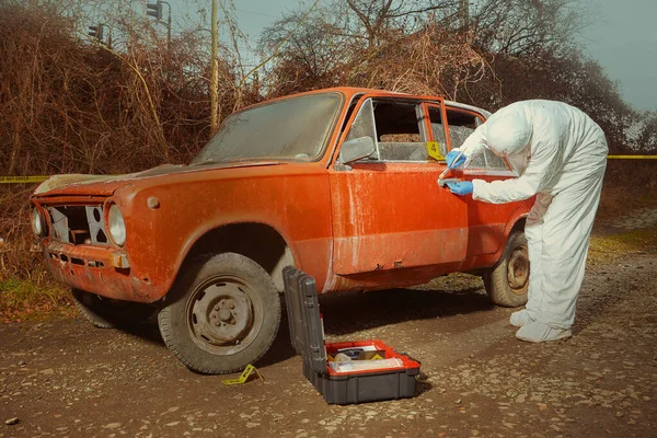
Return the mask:
<path id="1" fill-rule="evenodd" d="M 479 126 L 460 149 L 448 153 L 447 164 L 466 164 L 485 148 L 505 157 L 518 176 L 448 186 L 454 194 L 472 193 L 473 199 L 493 204 L 537 195 L 525 226 L 531 266 L 528 302 L 511 314 L 510 323 L 520 327 L 516 336 L 522 341 L 569 337 L 607 168 L 604 132 L 565 103 L 517 102 Z"/>

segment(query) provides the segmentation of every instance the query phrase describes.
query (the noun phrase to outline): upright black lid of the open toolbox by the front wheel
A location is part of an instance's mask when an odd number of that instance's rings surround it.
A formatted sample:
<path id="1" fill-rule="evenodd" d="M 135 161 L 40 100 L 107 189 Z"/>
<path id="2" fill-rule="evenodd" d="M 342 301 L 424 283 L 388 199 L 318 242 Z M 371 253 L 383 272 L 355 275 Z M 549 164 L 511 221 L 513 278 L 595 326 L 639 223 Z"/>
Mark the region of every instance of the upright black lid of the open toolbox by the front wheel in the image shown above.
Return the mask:
<path id="1" fill-rule="evenodd" d="M 283 270 L 283 280 L 292 347 L 315 372 L 324 374 L 326 349 L 315 280 L 292 266 Z"/>

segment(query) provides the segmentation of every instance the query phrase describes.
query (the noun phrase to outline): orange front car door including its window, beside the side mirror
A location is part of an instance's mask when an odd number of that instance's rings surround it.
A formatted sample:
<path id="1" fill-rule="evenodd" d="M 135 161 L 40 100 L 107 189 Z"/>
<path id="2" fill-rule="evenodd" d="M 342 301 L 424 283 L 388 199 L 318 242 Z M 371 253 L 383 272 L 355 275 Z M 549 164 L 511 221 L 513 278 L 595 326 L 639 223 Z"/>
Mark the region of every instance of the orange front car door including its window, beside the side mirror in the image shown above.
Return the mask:
<path id="1" fill-rule="evenodd" d="M 468 204 L 437 178 L 431 138 L 418 101 L 365 95 L 343 141 L 371 137 L 374 152 L 330 168 L 333 272 L 338 275 L 463 261 Z M 342 151 L 341 151 L 342 152 Z"/>

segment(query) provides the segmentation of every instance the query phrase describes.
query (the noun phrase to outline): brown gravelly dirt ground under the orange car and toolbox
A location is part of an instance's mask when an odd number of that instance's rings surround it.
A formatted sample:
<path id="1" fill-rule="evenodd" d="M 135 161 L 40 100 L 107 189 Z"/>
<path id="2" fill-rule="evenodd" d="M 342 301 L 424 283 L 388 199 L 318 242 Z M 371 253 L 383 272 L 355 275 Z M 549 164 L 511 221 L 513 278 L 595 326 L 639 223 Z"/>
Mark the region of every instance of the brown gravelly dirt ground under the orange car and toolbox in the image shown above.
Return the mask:
<path id="1" fill-rule="evenodd" d="M 655 251 L 591 261 L 574 337 L 544 345 L 517 341 L 473 276 L 325 297 L 331 341 L 422 361 L 414 399 L 350 406 L 304 380 L 286 320 L 265 380 L 234 387 L 184 368 L 155 326 L 0 324 L 0 437 L 655 437 L 656 291 Z"/>

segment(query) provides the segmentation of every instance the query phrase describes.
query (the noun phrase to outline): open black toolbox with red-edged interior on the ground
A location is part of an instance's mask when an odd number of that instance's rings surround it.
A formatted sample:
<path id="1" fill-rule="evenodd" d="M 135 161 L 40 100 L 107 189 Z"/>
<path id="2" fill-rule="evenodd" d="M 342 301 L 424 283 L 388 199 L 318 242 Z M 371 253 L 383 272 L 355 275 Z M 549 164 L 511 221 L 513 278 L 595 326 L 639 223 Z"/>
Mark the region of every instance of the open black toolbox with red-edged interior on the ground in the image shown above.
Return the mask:
<path id="1" fill-rule="evenodd" d="M 292 346 L 303 359 L 303 374 L 327 403 L 415 395 L 415 377 L 420 366 L 417 360 L 381 341 L 326 344 L 314 278 L 288 266 L 284 269 L 284 283 Z"/>

